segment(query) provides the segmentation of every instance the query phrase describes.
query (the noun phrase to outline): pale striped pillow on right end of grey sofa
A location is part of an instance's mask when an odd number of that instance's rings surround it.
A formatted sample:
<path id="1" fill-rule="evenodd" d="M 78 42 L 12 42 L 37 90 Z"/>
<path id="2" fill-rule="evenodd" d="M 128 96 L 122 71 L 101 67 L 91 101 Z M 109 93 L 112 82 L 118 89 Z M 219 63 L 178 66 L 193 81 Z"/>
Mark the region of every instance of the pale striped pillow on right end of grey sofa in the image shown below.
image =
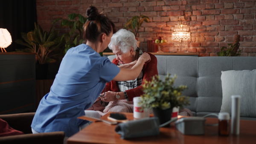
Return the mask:
<path id="1" fill-rule="evenodd" d="M 221 71 L 221 84 L 221 112 L 231 115 L 231 95 L 240 95 L 240 116 L 256 117 L 256 69 Z"/>

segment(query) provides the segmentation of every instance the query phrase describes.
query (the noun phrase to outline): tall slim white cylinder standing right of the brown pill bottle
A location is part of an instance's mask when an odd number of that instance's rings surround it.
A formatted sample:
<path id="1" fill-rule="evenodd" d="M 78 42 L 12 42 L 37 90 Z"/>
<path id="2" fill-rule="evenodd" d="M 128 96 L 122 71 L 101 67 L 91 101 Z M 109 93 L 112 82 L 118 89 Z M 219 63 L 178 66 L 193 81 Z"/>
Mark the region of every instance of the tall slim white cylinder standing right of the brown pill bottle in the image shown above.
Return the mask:
<path id="1" fill-rule="evenodd" d="M 233 135 L 239 135 L 240 101 L 240 95 L 231 95 L 231 133 Z"/>

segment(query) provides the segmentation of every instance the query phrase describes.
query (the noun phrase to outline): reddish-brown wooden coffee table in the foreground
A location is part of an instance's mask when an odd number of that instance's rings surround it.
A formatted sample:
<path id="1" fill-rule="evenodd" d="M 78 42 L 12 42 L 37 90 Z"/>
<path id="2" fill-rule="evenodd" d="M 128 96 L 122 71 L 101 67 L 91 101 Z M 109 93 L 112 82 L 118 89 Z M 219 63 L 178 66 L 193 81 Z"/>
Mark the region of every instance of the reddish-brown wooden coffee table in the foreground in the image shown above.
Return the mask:
<path id="1" fill-rule="evenodd" d="M 133 113 L 124 113 L 129 120 Z M 108 114 L 102 119 L 107 120 Z M 217 118 L 207 118 L 207 124 L 215 124 Z M 230 123 L 231 124 L 231 123 Z M 205 126 L 204 135 L 183 135 L 172 123 L 161 127 L 160 135 L 121 139 L 115 131 L 116 125 L 94 122 L 67 139 L 67 144 L 252 144 L 256 141 L 256 121 L 240 121 L 240 135 L 218 136 L 218 127 Z"/>

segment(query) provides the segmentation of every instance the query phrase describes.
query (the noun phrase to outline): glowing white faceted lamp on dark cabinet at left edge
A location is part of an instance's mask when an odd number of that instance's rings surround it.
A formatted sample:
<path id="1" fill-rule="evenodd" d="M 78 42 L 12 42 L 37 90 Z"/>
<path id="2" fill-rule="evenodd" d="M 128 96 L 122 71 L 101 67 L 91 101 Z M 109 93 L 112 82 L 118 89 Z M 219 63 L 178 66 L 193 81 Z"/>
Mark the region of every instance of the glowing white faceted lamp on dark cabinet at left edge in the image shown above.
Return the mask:
<path id="1" fill-rule="evenodd" d="M 3 50 L 6 52 L 5 48 L 12 44 L 12 37 L 11 34 L 8 32 L 7 29 L 0 28 L 0 48 L 1 51 Z"/>

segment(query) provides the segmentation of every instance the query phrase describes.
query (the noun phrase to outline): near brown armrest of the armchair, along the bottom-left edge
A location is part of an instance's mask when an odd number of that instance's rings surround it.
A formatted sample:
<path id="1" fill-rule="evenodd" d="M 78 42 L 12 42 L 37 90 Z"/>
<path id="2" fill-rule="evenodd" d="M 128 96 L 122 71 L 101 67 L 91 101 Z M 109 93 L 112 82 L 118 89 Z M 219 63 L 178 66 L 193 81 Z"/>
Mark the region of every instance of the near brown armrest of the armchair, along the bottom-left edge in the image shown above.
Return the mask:
<path id="1" fill-rule="evenodd" d="M 63 144 L 65 132 L 45 132 L 0 137 L 0 144 Z"/>

